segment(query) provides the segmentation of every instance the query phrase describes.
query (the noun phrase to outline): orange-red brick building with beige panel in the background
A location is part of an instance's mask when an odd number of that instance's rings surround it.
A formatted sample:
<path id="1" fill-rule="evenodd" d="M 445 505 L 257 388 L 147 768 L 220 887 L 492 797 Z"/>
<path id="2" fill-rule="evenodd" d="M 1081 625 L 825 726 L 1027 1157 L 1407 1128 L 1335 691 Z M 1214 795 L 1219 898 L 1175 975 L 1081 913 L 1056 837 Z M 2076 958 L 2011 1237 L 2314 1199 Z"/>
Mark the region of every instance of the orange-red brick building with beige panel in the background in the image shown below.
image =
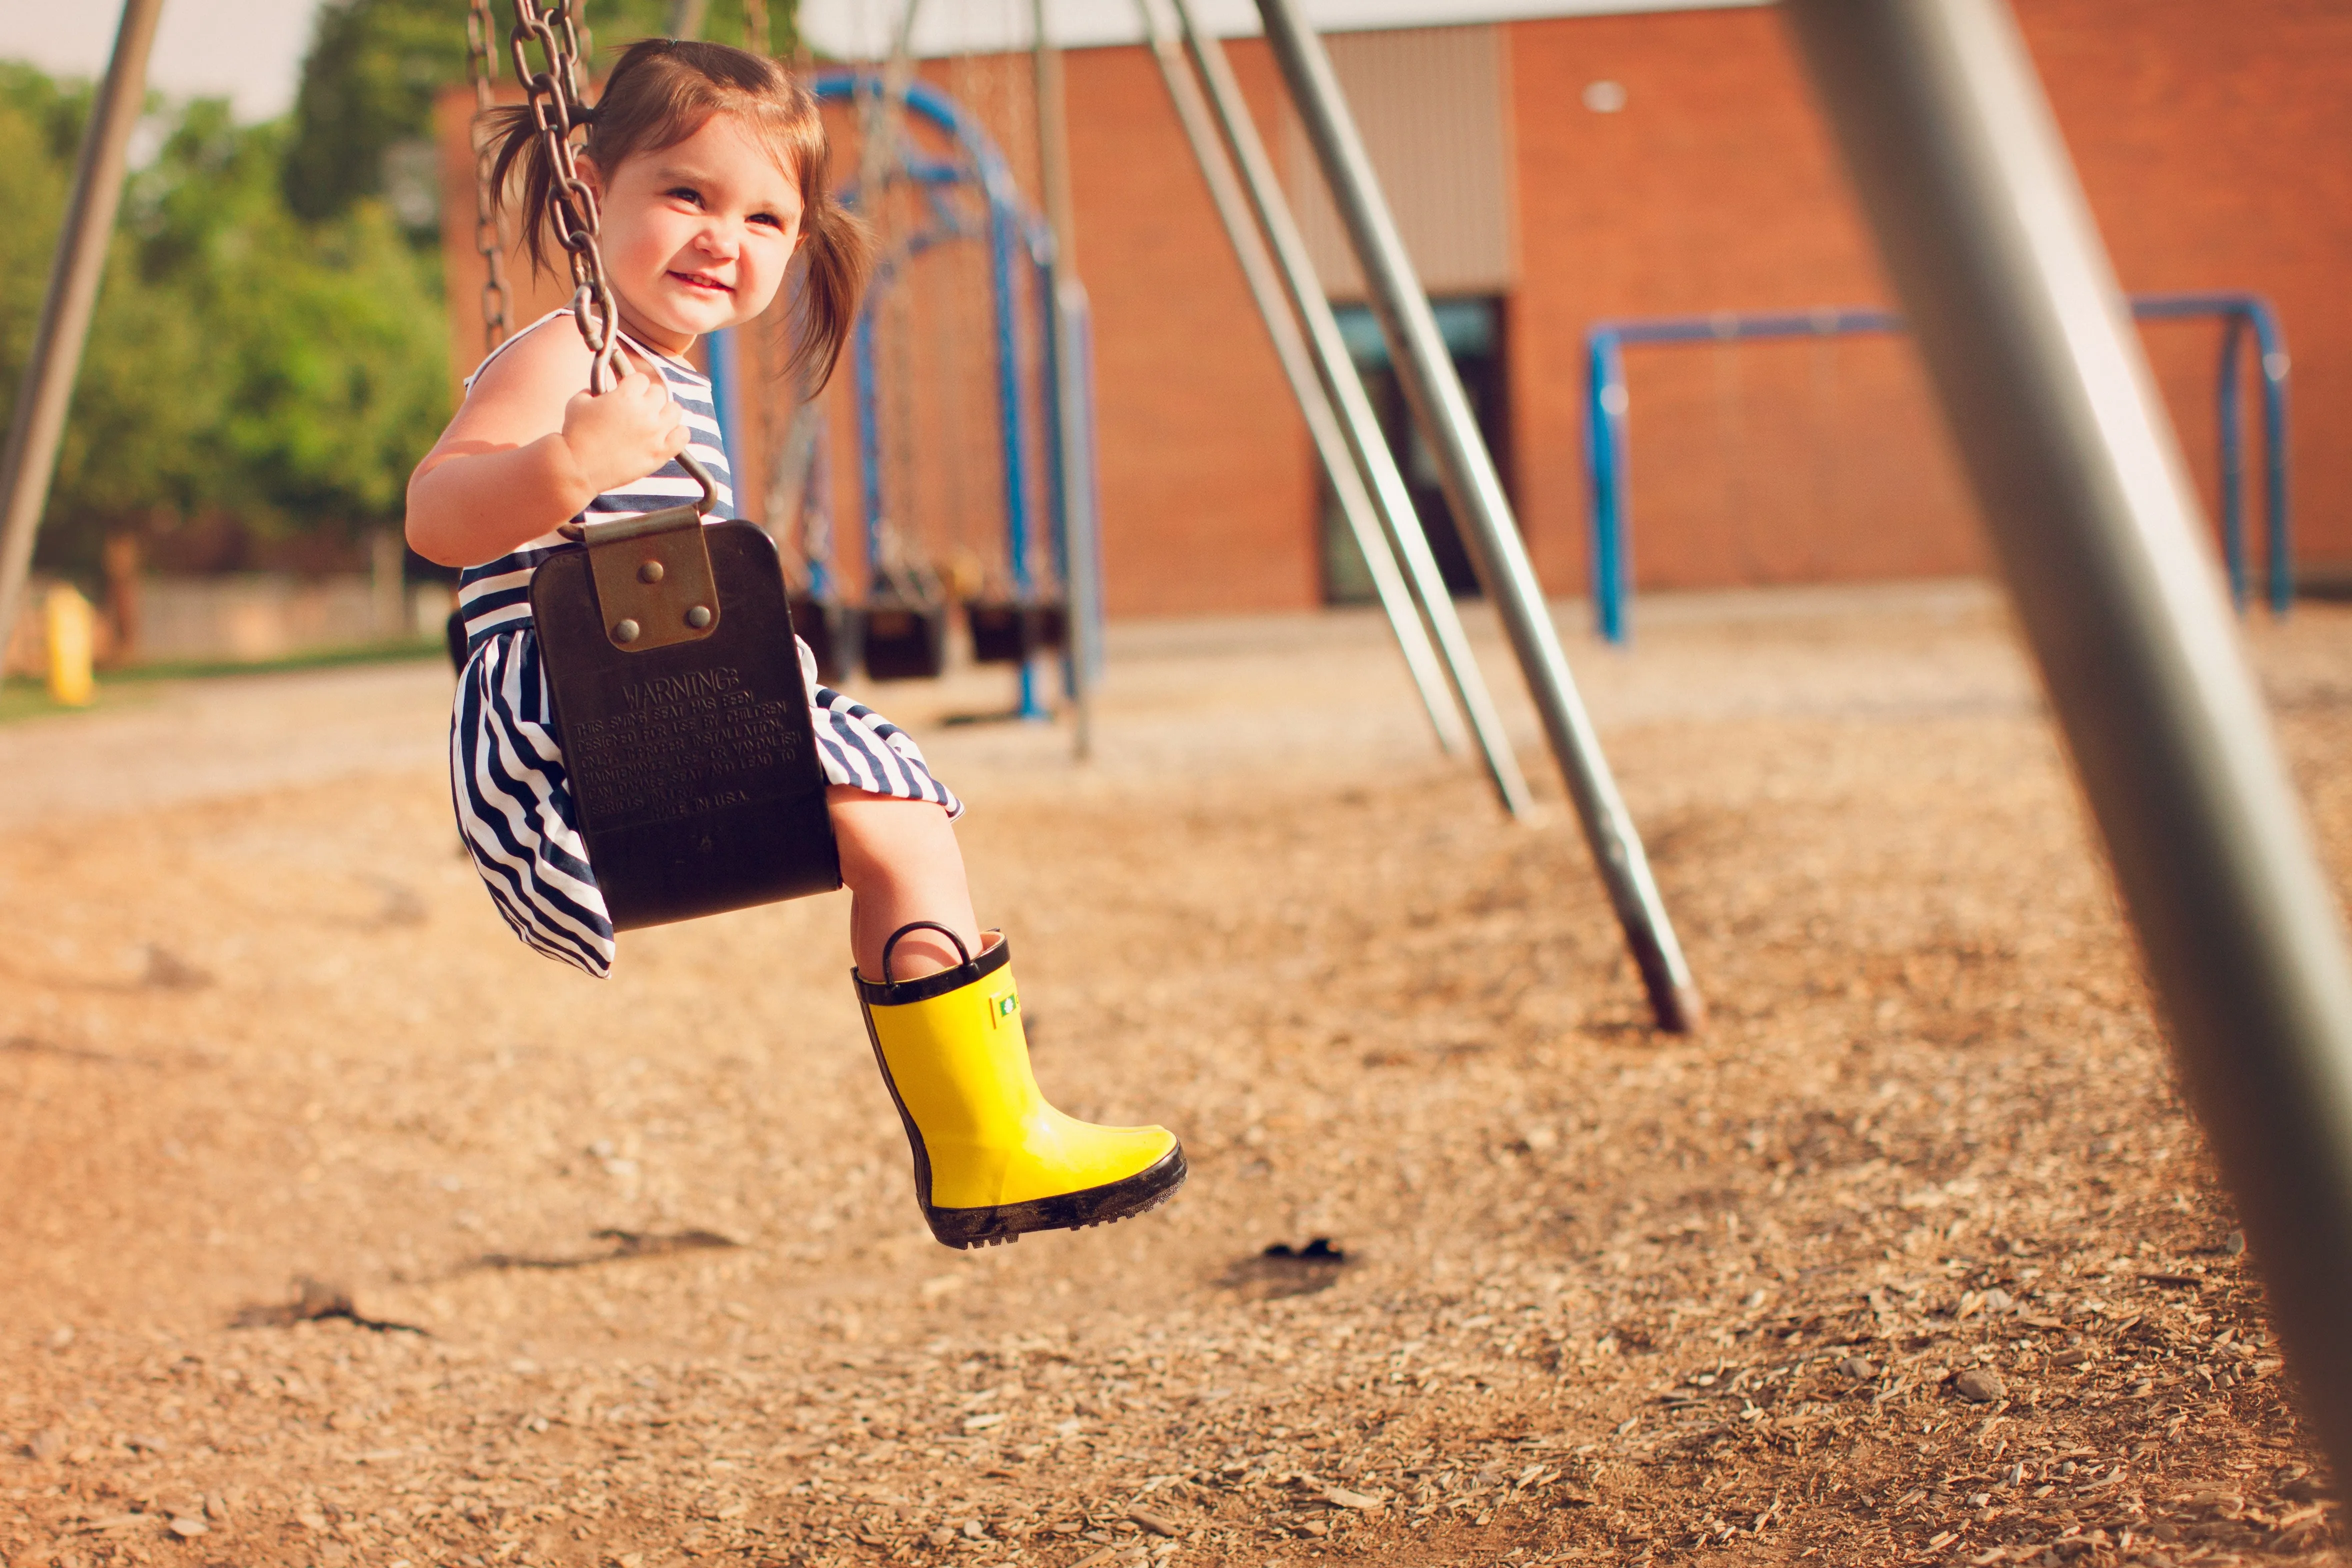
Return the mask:
<path id="1" fill-rule="evenodd" d="M 2352 9 L 2018 0 L 2018 16 L 2124 287 L 2249 289 L 2277 306 L 2293 350 L 2298 559 L 2314 576 L 2352 567 Z M 1891 303 L 1769 7 L 1357 31 L 1334 33 L 1331 49 L 1416 261 L 1458 327 L 1552 592 L 1585 583 L 1590 322 Z M 1254 38 L 1230 54 L 1327 289 L 1348 301 L 1352 268 L 1272 61 Z M 1030 181 L 1028 61 L 924 71 L 971 101 Z M 1077 268 L 1096 310 L 1110 611 L 1345 597 L 1352 574 L 1329 541 L 1305 428 L 1152 59 L 1136 45 L 1077 47 L 1065 80 Z M 456 209 L 468 169 L 463 110 L 449 110 Z M 449 226 L 456 301 L 470 301 L 477 275 L 466 219 Z M 470 364 L 468 313 L 452 350 Z M 2218 327 L 2154 324 L 2143 341 L 2211 505 Z M 1637 348 L 1630 388 L 1642 585 L 1980 567 L 1907 343 Z M 837 510 L 854 517 L 847 423 L 835 421 Z M 978 458 L 941 468 L 967 461 Z M 746 496 L 757 494 L 753 477 Z"/>

